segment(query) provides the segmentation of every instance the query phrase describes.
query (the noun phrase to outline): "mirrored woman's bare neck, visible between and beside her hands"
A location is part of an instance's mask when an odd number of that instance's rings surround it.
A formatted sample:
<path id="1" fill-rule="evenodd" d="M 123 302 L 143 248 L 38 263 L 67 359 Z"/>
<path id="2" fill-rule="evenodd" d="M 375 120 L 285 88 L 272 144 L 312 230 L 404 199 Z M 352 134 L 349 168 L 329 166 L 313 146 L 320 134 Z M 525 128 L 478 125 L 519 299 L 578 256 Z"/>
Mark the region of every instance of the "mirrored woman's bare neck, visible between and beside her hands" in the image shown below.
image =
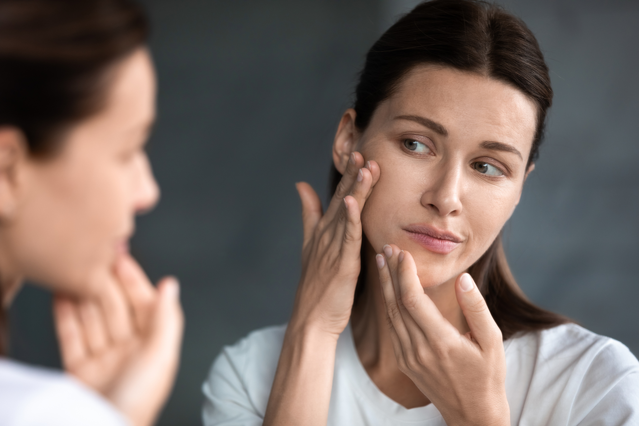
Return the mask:
<path id="1" fill-rule="evenodd" d="M 390 399 L 406 408 L 425 406 L 430 401 L 415 384 L 397 367 L 386 307 L 381 294 L 379 274 L 375 263 L 375 252 L 367 242 L 362 253 L 366 257 L 364 291 L 360 295 L 351 316 L 351 327 L 357 354 L 373 380 L 373 383 Z M 468 324 L 461 312 L 455 295 L 455 278 L 425 290 L 453 326 L 466 333 Z"/>

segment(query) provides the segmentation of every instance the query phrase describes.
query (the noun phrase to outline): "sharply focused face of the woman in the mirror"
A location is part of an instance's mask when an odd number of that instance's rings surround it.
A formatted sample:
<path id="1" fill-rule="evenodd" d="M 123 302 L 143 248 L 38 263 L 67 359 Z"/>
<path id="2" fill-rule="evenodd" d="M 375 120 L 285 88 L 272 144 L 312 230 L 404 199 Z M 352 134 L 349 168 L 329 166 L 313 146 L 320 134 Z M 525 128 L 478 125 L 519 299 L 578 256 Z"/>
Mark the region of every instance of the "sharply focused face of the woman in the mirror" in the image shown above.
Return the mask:
<path id="1" fill-rule="evenodd" d="M 424 287 L 465 271 L 520 200 L 535 120 L 534 103 L 503 82 L 415 68 L 355 147 L 381 170 L 362 211 L 374 250 L 408 250 Z"/>

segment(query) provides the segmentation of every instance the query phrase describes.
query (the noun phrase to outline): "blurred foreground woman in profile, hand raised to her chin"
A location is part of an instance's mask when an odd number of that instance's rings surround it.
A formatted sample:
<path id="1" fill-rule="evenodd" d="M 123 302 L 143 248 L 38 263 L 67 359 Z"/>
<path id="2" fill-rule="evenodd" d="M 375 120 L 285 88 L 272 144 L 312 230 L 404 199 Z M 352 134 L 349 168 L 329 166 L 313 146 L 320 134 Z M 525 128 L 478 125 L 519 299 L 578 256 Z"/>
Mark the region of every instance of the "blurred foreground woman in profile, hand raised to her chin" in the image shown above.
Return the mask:
<path id="1" fill-rule="evenodd" d="M 147 426 L 171 390 L 178 283 L 127 251 L 158 199 L 146 34 L 130 0 L 0 1 L 3 318 L 24 279 L 53 291 L 69 373 L 0 358 L 0 425 Z"/>

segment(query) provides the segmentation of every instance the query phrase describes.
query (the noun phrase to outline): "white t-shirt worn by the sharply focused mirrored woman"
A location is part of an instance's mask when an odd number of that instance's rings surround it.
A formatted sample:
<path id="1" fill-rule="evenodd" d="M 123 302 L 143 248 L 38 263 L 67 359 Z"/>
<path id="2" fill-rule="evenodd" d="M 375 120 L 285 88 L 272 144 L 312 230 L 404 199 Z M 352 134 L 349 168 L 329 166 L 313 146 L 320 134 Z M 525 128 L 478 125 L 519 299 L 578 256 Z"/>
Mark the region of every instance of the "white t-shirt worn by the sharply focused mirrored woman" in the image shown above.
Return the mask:
<path id="1" fill-rule="evenodd" d="M 286 326 L 253 331 L 227 346 L 204 382 L 205 426 L 258 426 Z M 504 342 L 512 425 L 639 425 L 639 362 L 626 346 L 576 324 Z M 337 342 L 328 426 L 443 426 L 433 404 L 406 409 L 371 381 L 350 326 Z"/>

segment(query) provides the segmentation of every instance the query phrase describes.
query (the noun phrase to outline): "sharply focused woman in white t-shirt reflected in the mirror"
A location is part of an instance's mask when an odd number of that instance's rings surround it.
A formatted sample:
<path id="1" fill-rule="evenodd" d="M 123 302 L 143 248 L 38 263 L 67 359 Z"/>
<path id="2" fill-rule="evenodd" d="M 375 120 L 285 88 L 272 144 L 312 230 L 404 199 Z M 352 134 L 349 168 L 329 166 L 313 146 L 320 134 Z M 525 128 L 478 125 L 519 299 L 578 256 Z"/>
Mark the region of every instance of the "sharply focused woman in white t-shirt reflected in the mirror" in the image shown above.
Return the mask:
<path id="1" fill-rule="evenodd" d="M 227 347 L 206 425 L 635 425 L 639 363 L 526 300 L 500 232 L 551 104 L 532 33 L 472 0 L 422 3 L 369 50 L 303 206 L 286 328 Z"/>

